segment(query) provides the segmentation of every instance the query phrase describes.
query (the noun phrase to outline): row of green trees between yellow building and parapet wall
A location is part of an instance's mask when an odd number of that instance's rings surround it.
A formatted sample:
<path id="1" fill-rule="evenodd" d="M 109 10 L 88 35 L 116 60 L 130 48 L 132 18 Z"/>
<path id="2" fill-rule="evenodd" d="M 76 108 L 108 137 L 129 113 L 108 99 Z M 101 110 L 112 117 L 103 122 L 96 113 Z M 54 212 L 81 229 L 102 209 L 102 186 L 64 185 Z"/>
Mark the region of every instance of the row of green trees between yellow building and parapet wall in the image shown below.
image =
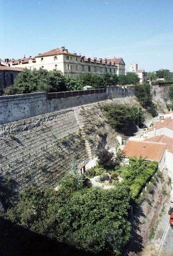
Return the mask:
<path id="1" fill-rule="evenodd" d="M 59 70 L 47 71 L 39 68 L 38 70 L 33 69 L 30 71 L 24 68 L 14 81 L 14 86 L 5 88 L 4 94 L 81 90 L 83 86 L 104 88 L 117 83 L 118 76 L 112 73 L 104 73 L 103 75 L 87 73 L 65 77 Z"/>

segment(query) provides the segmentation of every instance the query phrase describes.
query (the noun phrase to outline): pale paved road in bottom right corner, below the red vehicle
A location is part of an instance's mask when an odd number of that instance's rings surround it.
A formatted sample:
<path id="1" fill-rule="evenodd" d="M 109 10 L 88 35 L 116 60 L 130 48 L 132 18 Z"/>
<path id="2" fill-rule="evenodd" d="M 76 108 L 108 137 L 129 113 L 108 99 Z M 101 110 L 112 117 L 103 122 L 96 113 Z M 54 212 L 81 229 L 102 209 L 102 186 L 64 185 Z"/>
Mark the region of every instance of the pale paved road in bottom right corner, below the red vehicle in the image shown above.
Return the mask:
<path id="1" fill-rule="evenodd" d="M 165 236 L 162 240 L 158 256 L 172 256 L 173 255 L 173 229 L 169 226 L 166 227 Z"/>

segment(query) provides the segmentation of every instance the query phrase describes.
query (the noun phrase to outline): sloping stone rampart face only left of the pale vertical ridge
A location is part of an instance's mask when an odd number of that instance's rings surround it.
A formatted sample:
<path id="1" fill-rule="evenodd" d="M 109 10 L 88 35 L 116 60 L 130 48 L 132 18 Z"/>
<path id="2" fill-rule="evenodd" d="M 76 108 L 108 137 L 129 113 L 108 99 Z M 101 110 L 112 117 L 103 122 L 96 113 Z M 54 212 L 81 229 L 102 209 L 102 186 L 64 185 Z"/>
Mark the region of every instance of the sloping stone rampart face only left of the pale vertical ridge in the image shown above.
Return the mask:
<path id="1" fill-rule="evenodd" d="M 0 126 L 0 182 L 15 194 L 25 185 L 55 184 L 87 158 L 74 111 L 68 109 Z"/>

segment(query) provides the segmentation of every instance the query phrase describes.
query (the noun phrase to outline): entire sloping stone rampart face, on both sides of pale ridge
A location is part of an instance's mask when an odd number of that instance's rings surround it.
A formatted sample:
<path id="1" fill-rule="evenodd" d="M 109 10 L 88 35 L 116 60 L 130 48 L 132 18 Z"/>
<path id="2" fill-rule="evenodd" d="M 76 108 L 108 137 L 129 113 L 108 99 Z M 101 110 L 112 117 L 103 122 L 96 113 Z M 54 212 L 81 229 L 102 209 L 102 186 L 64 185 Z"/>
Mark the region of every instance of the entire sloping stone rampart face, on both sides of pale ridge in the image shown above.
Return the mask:
<path id="1" fill-rule="evenodd" d="M 106 101 L 130 104 L 132 100 L 124 97 Z M 106 123 L 100 103 L 1 124 L 0 185 L 8 189 L 0 195 L 0 201 L 4 202 L 10 191 L 16 195 L 26 185 L 56 186 L 72 170 L 73 163 L 79 167 L 98 149 L 105 145 L 112 148 L 116 143 L 116 134 Z"/>

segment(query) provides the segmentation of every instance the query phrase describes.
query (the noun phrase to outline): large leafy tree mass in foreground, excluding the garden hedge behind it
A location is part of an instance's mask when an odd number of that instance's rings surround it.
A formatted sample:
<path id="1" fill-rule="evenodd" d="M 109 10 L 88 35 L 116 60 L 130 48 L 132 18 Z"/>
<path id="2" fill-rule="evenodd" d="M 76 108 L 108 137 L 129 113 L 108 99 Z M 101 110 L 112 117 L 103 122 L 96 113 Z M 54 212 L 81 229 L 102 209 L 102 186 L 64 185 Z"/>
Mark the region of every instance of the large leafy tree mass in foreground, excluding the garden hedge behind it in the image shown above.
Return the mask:
<path id="1" fill-rule="evenodd" d="M 109 190 L 86 188 L 83 181 L 67 174 L 58 191 L 25 188 L 5 217 L 78 249 L 119 255 L 130 237 L 130 189 L 125 184 Z"/>

